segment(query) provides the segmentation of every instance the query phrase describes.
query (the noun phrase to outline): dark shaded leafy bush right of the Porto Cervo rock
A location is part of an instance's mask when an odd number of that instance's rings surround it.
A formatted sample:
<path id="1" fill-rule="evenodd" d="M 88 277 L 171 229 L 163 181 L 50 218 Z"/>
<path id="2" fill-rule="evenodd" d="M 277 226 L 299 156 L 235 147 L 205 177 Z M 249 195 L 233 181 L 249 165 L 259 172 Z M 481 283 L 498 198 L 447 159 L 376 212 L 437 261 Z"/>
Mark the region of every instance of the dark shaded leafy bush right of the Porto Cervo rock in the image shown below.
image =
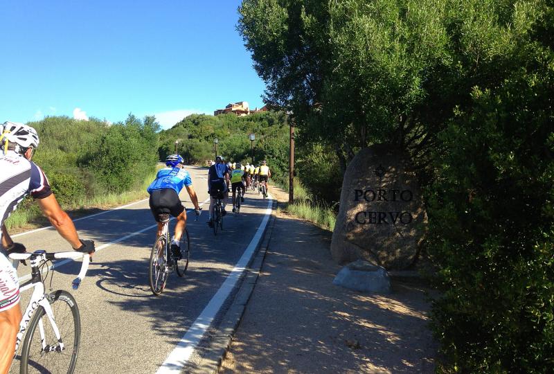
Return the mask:
<path id="1" fill-rule="evenodd" d="M 445 371 L 554 367 L 554 74 L 534 69 L 476 88 L 440 134 L 428 213 Z"/>

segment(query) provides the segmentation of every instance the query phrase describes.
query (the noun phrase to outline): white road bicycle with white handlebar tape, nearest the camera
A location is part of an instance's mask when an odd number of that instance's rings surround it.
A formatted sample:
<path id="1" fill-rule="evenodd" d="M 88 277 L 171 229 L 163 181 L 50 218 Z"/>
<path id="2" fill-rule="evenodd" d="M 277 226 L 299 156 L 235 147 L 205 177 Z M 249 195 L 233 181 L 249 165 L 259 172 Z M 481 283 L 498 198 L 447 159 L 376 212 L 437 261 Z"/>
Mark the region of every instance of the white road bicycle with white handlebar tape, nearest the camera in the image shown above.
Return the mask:
<path id="1" fill-rule="evenodd" d="M 46 276 L 42 278 L 42 267 L 54 259 L 82 258 L 81 270 L 72 282 L 73 290 L 77 290 L 89 268 L 89 253 L 38 250 L 33 253 L 10 253 L 9 257 L 12 260 L 29 260 L 31 278 L 30 281 L 21 285 L 19 290 L 24 292 L 30 288 L 34 289 L 16 337 L 14 358 L 17 357 L 21 339 L 25 334 L 21 348 L 19 373 L 26 374 L 33 371 L 73 373 L 81 337 L 79 308 L 69 292 L 57 290 L 46 294 L 44 281 L 48 277 L 50 268 L 46 271 Z M 53 274 L 54 272 L 52 272 L 51 282 Z M 45 316 L 46 318 L 43 318 Z M 39 334 L 37 334 L 37 327 Z"/>

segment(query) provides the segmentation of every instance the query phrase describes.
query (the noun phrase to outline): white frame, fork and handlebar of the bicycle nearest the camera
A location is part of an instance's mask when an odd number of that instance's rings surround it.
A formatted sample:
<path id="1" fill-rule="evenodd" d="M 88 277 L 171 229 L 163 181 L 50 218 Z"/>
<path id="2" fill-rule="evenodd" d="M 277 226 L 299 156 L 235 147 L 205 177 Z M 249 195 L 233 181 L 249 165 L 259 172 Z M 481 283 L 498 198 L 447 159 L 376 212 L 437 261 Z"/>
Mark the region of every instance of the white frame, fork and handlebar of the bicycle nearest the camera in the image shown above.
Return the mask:
<path id="1" fill-rule="evenodd" d="M 47 254 L 48 256 L 46 256 Z M 45 292 L 44 283 L 42 283 L 42 278 L 40 276 L 40 271 L 38 267 L 39 265 L 42 264 L 42 262 L 45 262 L 46 260 L 51 260 L 53 258 L 75 259 L 75 258 L 82 257 L 81 271 L 79 272 L 79 275 L 77 276 L 77 278 L 73 280 L 73 283 L 72 283 L 73 290 L 77 290 L 82 279 L 87 273 L 87 269 L 89 267 L 90 256 L 86 256 L 86 255 L 88 255 L 88 253 L 81 253 L 81 252 L 74 252 L 74 251 L 57 252 L 57 253 L 46 253 L 46 251 L 35 251 L 34 253 L 11 253 L 10 254 L 10 258 L 12 258 L 13 260 L 30 259 L 31 278 L 30 278 L 30 281 L 28 281 L 27 283 L 24 283 L 24 285 L 21 285 L 21 287 L 19 287 L 19 292 L 25 292 L 26 290 L 30 290 L 31 288 L 34 288 L 29 304 L 27 305 L 25 313 L 23 314 L 23 318 L 21 319 L 21 323 L 19 323 L 19 332 L 17 333 L 17 336 L 15 338 L 16 341 L 15 341 L 14 358 L 17 355 L 17 350 L 19 350 L 19 346 L 21 345 L 21 340 L 23 339 L 23 335 L 27 330 L 29 321 L 33 317 L 35 310 L 37 310 L 39 306 L 42 306 L 42 308 L 44 308 L 44 312 L 46 312 L 46 315 L 48 316 L 48 319 L 50 320 L 51 326 L 54 330 L 55 337 L 58 343 L 60 344 L 60 349 L 64 350 L 64 343 L 60 335 L 60 330 L 57 328 L 57 325 L 55 323 L 54 313 L 52 311 L 50 303 L 48 303 L 48 300 L 46 299 L 47 295 Z M 45 337 L 44 323 L 42 323 L 42 320 L 39 321 L 39 332 L 40 332 L 40 337 L 42 342 L 42 349 L 44 350 L 46 348 L 46 341 L 44 339 Z"/>

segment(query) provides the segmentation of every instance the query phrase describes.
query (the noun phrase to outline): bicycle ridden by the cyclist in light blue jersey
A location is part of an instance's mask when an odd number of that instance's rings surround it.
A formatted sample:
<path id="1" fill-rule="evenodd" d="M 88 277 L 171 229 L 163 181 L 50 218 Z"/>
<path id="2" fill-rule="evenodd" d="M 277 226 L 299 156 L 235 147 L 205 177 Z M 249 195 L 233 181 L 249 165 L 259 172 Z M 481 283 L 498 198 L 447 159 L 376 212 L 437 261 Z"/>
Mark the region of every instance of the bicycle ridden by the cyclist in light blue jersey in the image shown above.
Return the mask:
<path id="1" fill-rule="evenodd" d="M 196 220 L 198 217 L 196 218 Z M 150 281 L 150 290 L 152 294 L 158 296 L 166 288 L 169 274 L 175 270 L 181 278 L 185 276 L 188 269 L 188 255 L 190 253 L 190 236 L 188 229 L 184 229 L 181 239 L 179 240 L 179 248 L 181 253 L 172 253 L 169 240 L 169 213 L 159 214 L 159 222 L 163 223 L 161 235 L 156 239 L 150 252 L 150 263 L 148 265 L 148 274 Z M 172 264 L 168 265 L 168 258 L 171 256 Z"/>

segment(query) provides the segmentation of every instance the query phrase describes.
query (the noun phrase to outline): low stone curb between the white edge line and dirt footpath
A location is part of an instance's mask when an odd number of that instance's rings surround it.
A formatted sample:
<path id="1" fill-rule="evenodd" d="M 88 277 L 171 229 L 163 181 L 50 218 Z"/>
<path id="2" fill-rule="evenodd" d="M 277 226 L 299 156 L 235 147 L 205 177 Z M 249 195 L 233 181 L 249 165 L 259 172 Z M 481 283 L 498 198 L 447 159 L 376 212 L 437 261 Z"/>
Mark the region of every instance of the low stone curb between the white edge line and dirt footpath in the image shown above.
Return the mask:
<path id="1" fill-rule="evenodd" d="M 207 350 L 208 353 L 204 355 L 202 359 L 200 359 L 199 364 L 197 364 L 194 368 L 191 368 L 188 373 L 217 373 L 220 370 L 223 359 L 227 354 L 231 341 L 233 340 L 235 330 L 238 328 L 238 325 L 242 319 L 242 314 L 244 314 L 244 309 L 246 308 L 254 287 L 256 286 L 256 281 L 258 281 L 260 269 L 262 268 L 265 254 L 267 253 L 267 249 L 269 247 L 269 240 L 271 240 L 277 206 L 278 202 L 274 199 L 271 203 L 271 217 L 269 217 L 269 222 L 263 234 L 261 244 L 256 250 L 255 256 L 253 256 L 252 260 L 249 262 L 247 269 L 244 271 L 242 283 L 240 284 L 238 292 L 235 294 L 233 303 L 224 315 L 220 326 L 212 335 L 210 348 Z"/>

